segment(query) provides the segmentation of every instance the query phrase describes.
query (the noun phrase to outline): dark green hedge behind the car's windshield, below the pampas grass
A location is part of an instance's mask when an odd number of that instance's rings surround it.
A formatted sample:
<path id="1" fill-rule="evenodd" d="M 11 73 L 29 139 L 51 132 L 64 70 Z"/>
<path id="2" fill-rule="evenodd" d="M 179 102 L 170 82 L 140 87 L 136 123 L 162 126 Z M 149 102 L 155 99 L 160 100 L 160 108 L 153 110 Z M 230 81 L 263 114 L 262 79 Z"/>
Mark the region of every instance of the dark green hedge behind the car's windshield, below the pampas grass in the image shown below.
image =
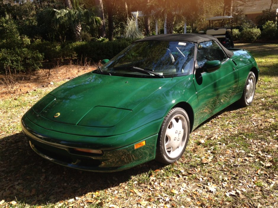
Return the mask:
<path id="1" fill-rule="evenodd" d="M 94 62 L 111 59 L 132 43 L 130 39 L 109 42 L 76 42 L 71 44 L 78 58 L 89 58 Z"/>

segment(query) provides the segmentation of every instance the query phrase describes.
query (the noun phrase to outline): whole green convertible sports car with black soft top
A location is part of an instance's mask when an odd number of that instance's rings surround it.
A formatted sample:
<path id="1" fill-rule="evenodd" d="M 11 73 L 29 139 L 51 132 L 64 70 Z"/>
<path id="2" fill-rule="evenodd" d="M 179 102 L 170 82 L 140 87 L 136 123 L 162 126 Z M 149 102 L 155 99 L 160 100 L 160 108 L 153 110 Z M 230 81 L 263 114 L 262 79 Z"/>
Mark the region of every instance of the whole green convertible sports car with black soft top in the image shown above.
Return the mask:
<path id="1" fill-rule="evenodd" d="M 51 91 L 21 126 L 36 153 L 64 166 L 170 164 L 203 121 L 236 101 L 251 104 L 258 75 L 248 51 L 228 50 L 213 36 L 149 36 Z"/>

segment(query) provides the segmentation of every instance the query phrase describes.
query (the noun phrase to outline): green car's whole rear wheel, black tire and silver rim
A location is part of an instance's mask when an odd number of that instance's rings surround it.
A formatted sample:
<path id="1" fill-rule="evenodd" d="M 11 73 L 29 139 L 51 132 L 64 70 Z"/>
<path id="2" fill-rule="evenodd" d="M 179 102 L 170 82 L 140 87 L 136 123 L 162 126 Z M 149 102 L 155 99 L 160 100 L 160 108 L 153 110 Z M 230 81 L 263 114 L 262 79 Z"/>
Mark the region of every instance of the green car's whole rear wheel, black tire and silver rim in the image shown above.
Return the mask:
<path id="1" fill-rule="evenodd" d="M 252 86 L 250 86 L 252 82 Z M 255 90 L 256 90 L 256 76 L 255 74 L 250 71 L 247 79 L 245 81 L 245 86 L 243 89 L 243 93 L 241 98 L 237 101 L 237 104 L 242 106 L 242 107 L 246 107 L 251 105 L 254 96 L 255 96 Z M 251 92 L 250 92 L 251 91 Z"/>

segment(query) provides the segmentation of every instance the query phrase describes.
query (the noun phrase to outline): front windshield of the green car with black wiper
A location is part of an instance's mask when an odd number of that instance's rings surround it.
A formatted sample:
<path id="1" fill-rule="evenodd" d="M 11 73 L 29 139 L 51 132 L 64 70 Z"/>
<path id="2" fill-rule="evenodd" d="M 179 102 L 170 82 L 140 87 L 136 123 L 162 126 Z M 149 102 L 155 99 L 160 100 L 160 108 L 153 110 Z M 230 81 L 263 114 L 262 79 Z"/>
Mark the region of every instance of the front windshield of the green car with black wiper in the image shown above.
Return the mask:
<path id="1" fill-rule="evenodd" d="M 94 73 L 147 78 L 188 75 L 193 71 L 194 47 L 190 42 L 135 42 Z"/>

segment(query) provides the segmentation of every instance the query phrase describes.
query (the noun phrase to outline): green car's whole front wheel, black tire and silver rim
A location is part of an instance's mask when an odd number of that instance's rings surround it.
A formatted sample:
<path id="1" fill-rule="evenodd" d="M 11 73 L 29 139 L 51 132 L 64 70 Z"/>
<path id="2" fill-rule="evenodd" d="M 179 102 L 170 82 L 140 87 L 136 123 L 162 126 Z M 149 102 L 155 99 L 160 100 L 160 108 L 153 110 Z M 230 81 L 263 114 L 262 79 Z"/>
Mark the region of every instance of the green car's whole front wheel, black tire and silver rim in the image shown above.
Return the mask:
<path id="1" fill-rule="evenodd" d="M 170 133 L 172 132 L 175 133 L 172 134 L 171 139 Z M 164 164 L 171 164 L 180 159 L 187 146 L 189 133 L 188 114 L 182 108 L 171 109 L 164 118 L 159 131 L 156 160 Z"/>

